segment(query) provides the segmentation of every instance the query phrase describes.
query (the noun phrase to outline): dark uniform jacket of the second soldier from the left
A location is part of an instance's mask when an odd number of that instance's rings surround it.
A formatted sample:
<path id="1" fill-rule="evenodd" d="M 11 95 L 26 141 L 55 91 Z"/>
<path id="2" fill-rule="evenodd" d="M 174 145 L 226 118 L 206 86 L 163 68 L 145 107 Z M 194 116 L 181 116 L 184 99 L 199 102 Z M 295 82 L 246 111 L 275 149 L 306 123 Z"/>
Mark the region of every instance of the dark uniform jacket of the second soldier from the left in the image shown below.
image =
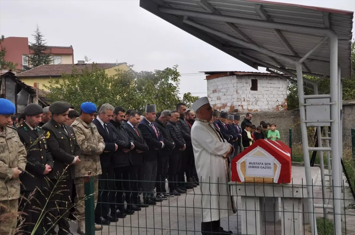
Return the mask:
<path id="1" fill-rule="evenodd" d="M 23 122 L 17 126 L 17 133 L 27 149 L 26 171 L 20 176 L 21 191 L 33 191 L 37 187 L 43 191 L 49 187 L 45 179 L 47 175 L 43 174 L 45 165 L 53 168 L 53 158 L 47 147 L 45 132 L 40 127 L 31 130 Z"/>

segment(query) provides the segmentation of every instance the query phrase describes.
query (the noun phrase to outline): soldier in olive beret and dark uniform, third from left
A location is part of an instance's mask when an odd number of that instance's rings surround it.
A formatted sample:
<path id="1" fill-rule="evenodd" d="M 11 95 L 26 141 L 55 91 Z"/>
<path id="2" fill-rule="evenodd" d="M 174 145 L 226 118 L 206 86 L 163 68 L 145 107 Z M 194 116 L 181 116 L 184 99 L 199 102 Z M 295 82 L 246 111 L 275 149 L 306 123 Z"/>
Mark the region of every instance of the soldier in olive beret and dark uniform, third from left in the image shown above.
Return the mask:
<path id="1" fill-rule="evenodd" d="M 67 211 L 72 204 L 74 165 L 80 163 L 80 147 L 76 142 L 73 128 L 66 124 L 69 107 L 67 102 L 52 103 L 49 106 L 52 118 L 42 127 L 46 131 L 47 146 L 54 160 L 54 167 L 48 174 L 52 191 L 47 204 L 51 222 L 45 225 L 48 234 L 57 234 L 54 230 L 56 224 L 59 226 L 58 235 L 72 234 L 67 221 L 69 214 Z"/>

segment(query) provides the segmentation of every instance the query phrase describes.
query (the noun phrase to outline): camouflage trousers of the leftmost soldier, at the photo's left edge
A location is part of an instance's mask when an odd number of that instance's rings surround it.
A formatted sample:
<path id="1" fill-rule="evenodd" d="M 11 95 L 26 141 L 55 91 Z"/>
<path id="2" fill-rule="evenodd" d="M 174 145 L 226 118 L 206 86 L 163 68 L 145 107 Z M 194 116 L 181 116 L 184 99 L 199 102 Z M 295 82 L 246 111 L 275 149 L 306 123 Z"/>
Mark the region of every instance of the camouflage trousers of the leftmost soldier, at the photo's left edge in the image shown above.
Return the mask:
<path id="1" fill-rule="evenodd" d="M 15 234 L 18 199 L 0 201 L 0 235 Z"/>

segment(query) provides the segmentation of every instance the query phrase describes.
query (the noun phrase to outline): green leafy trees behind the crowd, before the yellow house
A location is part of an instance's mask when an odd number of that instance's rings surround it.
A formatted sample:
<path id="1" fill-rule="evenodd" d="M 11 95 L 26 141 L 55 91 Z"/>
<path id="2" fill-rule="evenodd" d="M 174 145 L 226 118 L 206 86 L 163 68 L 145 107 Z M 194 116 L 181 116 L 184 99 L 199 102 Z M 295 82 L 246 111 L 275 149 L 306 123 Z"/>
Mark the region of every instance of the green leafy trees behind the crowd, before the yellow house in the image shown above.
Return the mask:
<path id="1" fill-rule="evenodd" d="M 180 73 L 178 66 L 155 70 L 154 72 L 136 72 L 117 70 L 113 76 L 108 76 L 104 70 L 95 64 L 92 70 L 86 67 L 82 71 L 73 70 L 72 74 L 62 74 L 63 80 L 51 79 L 47 97 L 51 100 L 65 100 L 80 109 L 82 102 L 91 101 L 96 105 L 110 103 L 125 109 L 137 110 L 143 113 L 147 103 L 157 105 L 159 111 L 173 110 L 179 102 L 190 106 L 198 97 L 191 93 L 179 97 Z"/>

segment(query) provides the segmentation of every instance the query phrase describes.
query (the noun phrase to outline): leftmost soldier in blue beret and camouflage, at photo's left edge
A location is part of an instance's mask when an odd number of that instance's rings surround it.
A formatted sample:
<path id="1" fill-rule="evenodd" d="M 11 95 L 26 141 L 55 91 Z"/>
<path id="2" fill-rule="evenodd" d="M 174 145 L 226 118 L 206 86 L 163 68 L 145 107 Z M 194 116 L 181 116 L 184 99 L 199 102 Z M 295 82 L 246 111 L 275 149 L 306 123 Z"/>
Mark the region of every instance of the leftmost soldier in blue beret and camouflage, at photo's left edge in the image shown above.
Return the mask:
<path id="1" fill-rule="evenodd" d="M 26 167 L 26 150 L 16 129 L 9 126 L 15 105 L 0 99 L 0 235 L 13 234 L 17 225 L 19 176 Z M 7 215 L 5 215 L 7 214 Z"/>

